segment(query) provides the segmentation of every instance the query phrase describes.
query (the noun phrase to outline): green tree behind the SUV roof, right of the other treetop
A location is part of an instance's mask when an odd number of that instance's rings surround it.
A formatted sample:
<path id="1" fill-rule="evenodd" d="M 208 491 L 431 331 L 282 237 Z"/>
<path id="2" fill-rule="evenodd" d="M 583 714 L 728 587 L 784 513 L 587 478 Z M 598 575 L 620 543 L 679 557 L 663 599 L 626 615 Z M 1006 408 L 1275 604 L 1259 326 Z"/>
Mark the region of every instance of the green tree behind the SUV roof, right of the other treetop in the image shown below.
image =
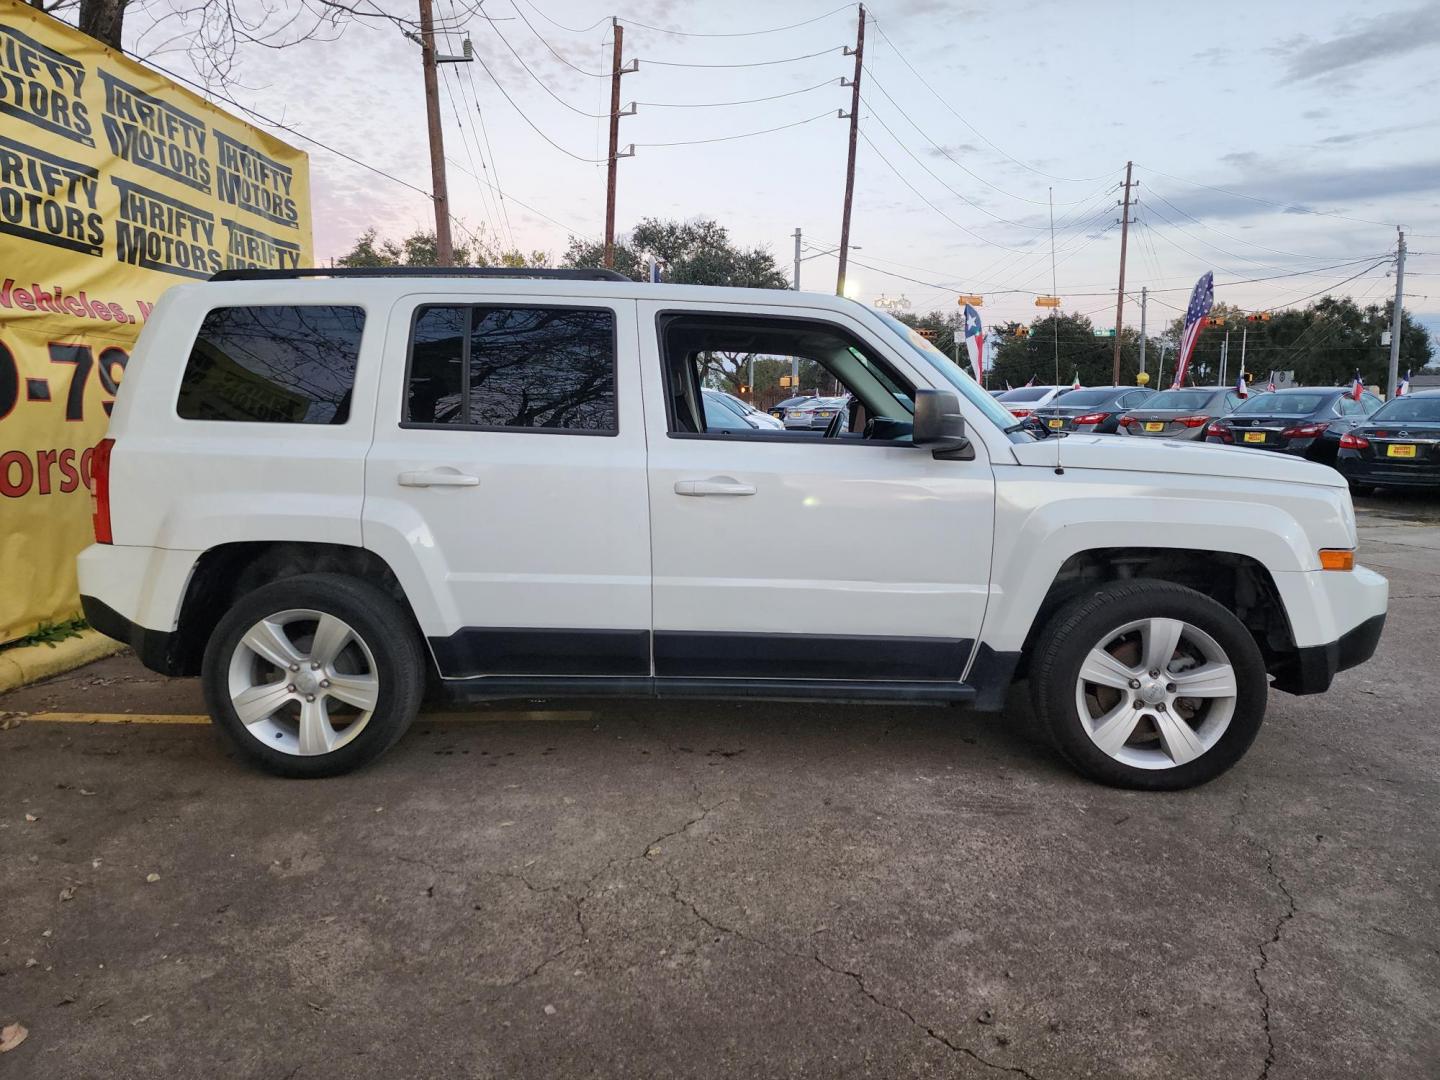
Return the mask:
<path id="1" fill-rule="evenodd" d="M 647 258 L 658 259 L 665 281 L 678 285 L 791 287 L 789 275 L 768 249 L 739 248 L 723 225 L 703 217 L 690 222 L 642 217 L 628 235 L 618 238 L 615 269 L 642 281 Z M 599 268 L 603 264 L 602 243 L 570 238 L 562 265 Z"/>

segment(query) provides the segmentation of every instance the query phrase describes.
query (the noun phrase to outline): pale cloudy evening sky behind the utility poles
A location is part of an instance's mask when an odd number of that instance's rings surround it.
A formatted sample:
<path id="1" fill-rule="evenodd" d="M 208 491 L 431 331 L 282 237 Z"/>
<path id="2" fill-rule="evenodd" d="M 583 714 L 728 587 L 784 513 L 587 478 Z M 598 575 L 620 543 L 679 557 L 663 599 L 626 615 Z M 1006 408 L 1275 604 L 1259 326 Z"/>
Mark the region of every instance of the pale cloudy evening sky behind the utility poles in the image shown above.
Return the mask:
<path id="1" fill-rule="evenodd" d="M 441 49 L 468 35 L 475 56 L 441 71 L 458 235 L 554 259 L 602 235 L 611 10 L 436 0 Z M 194 75 L 192 27 L 150 29 L 145 12 L 127 50 Z M 802 288 L 834 291 L 857 9 L 625 0 L 615 14 L 638 60 L 616 228 L 713 217 L 786 268 L 798 228 Z M 1133 161 L 1128 325 L 1142 287 L 1153 333 L 1207 269 L 1217 301 L 1246 308 L 1381 301 L 1401 225 L 1405 305 L 1440 331 L 1440 3 L 884 0 L 867 14 L 848 294 L 914 312 L 979 294 L 992 324 L 1028 321 L 1054 272 L 1063 310 L 1113 324 Z M 433 228 L 419 48 L 384 19 L 323 37 L 240 46 L 216 86 L 310 150 L 321 262 L 367 228 Z"/>

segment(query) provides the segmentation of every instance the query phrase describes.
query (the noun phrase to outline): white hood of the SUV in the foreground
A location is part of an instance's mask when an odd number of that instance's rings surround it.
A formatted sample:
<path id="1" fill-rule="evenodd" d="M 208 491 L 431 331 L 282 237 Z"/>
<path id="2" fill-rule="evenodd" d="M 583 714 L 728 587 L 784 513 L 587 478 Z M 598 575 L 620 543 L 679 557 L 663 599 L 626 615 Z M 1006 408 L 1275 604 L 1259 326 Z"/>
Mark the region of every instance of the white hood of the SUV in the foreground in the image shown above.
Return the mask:
<path id="1" fill-rule="evenodd" d="M 1021 465 L 1119 472 L 1169 472 L 1191 477 L 1272 480 L 1342 488 L 1345 478 L 1328 465 L 1263 449 L 1169 439 L 1119 439 L 1113 435 L 1067 435 L 1014 446 Z"/>

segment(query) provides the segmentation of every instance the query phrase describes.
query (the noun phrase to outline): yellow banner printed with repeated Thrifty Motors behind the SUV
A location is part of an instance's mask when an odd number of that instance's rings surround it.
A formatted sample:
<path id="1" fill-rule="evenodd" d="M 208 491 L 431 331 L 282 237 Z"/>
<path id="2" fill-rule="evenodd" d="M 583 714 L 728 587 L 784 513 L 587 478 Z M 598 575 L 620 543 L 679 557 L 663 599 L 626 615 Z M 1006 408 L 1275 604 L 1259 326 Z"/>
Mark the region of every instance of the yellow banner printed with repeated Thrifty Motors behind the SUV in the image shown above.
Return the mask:
<path id="1" fill-rule="evenodd" d="M 312 261 L 300 150 L 0 0 L 0 642 L 78 609 L 91 456 L 168 285 Z"/>

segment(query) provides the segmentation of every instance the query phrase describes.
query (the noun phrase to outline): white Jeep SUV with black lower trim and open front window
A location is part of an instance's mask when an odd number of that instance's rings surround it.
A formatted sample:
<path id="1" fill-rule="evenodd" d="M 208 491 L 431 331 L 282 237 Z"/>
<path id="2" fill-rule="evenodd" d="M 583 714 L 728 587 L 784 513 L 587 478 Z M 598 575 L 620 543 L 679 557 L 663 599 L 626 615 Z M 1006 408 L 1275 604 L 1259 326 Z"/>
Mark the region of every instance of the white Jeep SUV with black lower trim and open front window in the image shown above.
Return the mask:
<path id="1" fill-rule="evenodd" d="M 737 357 L 848 402 L 711 429 Z M 372 760 L 426 688 L 999 710 L 1028 677 L 1083 773 L 1184 788 L 1385 618 L 1332 469 L 1032 433 L 805 292 L 223 272 L 156 307 L 94 461 L 86 618 L 287 776 Z"/>

